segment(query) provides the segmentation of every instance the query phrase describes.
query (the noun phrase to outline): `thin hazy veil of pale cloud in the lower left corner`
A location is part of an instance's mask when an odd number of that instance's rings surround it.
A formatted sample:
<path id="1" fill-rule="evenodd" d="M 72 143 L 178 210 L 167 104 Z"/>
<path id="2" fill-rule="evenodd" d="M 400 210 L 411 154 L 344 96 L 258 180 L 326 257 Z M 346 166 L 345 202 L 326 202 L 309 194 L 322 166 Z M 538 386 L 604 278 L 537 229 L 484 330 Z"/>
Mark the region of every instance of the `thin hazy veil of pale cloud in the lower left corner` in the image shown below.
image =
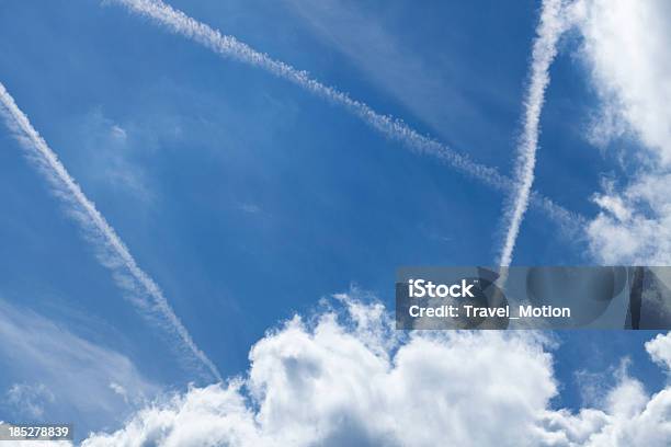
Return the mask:
<path id="1" fill-rule="evenodd" d="M 0 300 L 0 358 L 11 385 L 0 402 L 12 414 L 76 419 L 79 429 L 118 421 L 158 392 L 124 355 L 67 331 L 30 309 Z M 123 386 L 132 405 L 109 383 Z"/>

